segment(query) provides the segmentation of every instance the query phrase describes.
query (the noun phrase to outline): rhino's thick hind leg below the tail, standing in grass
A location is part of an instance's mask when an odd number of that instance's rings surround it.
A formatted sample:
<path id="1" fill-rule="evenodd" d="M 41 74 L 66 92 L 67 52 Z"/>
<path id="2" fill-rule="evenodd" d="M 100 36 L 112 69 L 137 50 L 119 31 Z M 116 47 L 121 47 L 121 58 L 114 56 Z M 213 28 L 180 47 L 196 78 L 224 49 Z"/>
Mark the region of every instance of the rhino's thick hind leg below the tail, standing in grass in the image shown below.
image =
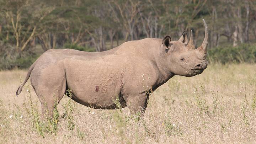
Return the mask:
<path id="1" fill-rule="evenodd" d="M 58 108 L 58 103 L 66 91 L 65 71 L 54 69 L 50 74 L 33 74 L 31 84 L 41 102 L 42 119 L 52 117 L 54 108 Z"/>

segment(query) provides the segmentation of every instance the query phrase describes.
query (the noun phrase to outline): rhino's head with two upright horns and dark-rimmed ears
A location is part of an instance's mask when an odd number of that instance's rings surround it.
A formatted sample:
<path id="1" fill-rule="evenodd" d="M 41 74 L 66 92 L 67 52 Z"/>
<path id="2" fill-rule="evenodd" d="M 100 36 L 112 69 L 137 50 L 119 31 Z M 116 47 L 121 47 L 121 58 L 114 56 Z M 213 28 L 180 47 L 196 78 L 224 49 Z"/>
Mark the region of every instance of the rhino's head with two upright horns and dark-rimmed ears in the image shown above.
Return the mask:
<path id="1" fill-rule="evenodd" d="M 165 48 L 164 61 L 168 70 L 173 74 L 194 76 L 201 74 L 207 68 L 208 28 L 204 20 L 203 23 L 205 36 L 202 45 L 198 48 L 194 46 L 192 30 L 189 42 L 186 32 L 183 32 L 178 41 L 171 41 L 170 36 L 166 36 L 163 39 L 162 47 Z"/>

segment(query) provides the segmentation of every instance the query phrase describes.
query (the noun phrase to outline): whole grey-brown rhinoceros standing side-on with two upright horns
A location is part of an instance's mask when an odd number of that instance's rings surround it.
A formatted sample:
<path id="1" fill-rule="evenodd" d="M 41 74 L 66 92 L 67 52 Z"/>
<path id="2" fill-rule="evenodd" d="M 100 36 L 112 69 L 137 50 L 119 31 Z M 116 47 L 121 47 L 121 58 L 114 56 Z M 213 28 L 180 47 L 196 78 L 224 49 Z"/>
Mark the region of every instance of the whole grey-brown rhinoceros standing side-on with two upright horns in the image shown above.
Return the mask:
<path id="1" fill-rule="evenodd" d="M 42 117 L 52 116 L 55 103 L 72 89 L 74 101 L 96 109 L 127 107 L 142 115 L 150 93 L 175 75 L 194 76 L 207 68 L 208 28 L 195 49 L 183 32 L 178 41 L 145 38 L 128 41 L 105 52 L 82 52 L 74 49 L 50 49 L 29 68 L 18 96 L 30 78 L 42 104 Z M 116 100 L 118 100 L 118 105 Z"/>

